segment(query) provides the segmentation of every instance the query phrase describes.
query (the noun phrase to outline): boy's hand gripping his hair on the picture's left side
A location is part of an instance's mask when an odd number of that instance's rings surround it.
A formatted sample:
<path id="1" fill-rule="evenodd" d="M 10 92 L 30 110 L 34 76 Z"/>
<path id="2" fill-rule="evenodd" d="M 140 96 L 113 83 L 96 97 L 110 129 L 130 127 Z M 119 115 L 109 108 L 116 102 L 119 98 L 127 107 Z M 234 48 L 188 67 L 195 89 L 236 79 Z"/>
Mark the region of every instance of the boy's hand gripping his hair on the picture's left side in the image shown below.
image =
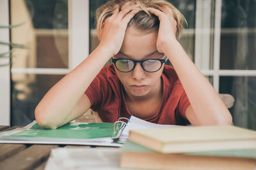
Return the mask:
<path id="1" fill-rule="evenodd" d="M 119 11 L 113 12 L 111 17 L 106 18 L 104 24 L 102 25 L 102 30 L 100 31 L 100 46 L 109 50 L 113 55 L 116 55 L 121 49 L 122 43 L 124 41 L 125 31 L 127 29 L 127 24 L 139 10 L 130 10 L 125 8 L 125 4 Z"/>

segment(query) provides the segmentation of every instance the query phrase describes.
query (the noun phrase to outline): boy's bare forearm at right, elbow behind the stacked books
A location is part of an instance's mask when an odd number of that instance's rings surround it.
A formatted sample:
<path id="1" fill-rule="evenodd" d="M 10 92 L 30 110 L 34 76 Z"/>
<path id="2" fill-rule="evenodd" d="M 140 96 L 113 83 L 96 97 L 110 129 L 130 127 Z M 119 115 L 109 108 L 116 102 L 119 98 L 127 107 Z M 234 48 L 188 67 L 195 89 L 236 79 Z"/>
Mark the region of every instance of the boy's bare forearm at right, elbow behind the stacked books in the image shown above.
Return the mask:
<path id="1" fill-rule="evenodd" d="M 178 41 L 166 45 L 165 54 L 186 91 L 200 125 L 231 124 L 232 117 L 211 83 L 200 73 Z"/>

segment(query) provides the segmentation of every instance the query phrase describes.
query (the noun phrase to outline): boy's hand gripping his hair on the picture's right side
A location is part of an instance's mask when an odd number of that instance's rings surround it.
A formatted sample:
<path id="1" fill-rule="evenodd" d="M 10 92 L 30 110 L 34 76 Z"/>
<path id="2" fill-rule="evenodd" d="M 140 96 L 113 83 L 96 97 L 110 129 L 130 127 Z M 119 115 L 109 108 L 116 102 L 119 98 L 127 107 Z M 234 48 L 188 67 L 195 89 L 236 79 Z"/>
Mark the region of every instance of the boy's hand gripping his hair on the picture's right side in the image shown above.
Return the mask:
<path id="1" fill-rule="evenodd" d="M 164 50 L 170 48 L 173 41 L 177 41 L 177 21 L 166 7 L 161 8 L 161 10 L 162 11 L 156 8 L 148 8 L 148 12 L 159 18 L 160 24 L 156 47 L 158 52 L 164 53 Z"/>

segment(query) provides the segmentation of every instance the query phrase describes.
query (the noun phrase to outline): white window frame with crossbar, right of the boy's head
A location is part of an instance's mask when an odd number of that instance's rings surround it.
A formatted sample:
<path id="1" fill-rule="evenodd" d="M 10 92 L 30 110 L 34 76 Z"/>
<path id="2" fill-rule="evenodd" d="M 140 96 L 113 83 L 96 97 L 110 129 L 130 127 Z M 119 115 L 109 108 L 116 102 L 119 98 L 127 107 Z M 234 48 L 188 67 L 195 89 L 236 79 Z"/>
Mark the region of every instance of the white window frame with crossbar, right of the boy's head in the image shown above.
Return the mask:
<path id="1" fill-rule="evenodd" d="M 256 76 L 256 70 L 246 70 L 246 69 L 220 69 L 220 40 L 221 40 L 221 0 L 214 1 L 214 37 L 213 37 L 213 69 L 209 67 L 209 61 L 211 54 L 209 51 L 211 36 L 211 27 L 209 22 L 211 21 L 211 14 L 206 11 L 206 15 L 202 17 L 204 9 L 211 9 L 211 3 L 214 0 L 196 0 L 196 28 L 195 28 L 195 65 L 200 69 L 204 76 L 212 76 L 213 87 L 219 92 L 220 89 L 220 76 Z M 204 8 L 200 8 L 204 6 Z M 208 17 L 208 18 L 207 18 Z M 205 31 L 208 29 L 208 31 Z M 201 31 L 201 32 L 200 32 Z M 202 31 L 204 32 L 204 37 L 202 38 Z M 202 49 L 203 48 L 203 49 Z M 206 49 L 206 50 L 205 50 Z"/>

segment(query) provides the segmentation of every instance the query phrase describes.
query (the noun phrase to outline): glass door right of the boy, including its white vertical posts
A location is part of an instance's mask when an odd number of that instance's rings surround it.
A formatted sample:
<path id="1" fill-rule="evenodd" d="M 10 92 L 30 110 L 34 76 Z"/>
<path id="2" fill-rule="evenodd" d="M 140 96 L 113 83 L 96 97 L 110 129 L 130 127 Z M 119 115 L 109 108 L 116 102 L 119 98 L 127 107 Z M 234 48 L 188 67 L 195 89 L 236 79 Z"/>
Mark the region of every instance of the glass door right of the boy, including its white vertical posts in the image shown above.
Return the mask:
<path id="1" fill-rule="evenodd" d="M 221 94 L 231 94 L 234 125 L 256 129 L 256 3 L 196 1 L 195 64 Z"/>

